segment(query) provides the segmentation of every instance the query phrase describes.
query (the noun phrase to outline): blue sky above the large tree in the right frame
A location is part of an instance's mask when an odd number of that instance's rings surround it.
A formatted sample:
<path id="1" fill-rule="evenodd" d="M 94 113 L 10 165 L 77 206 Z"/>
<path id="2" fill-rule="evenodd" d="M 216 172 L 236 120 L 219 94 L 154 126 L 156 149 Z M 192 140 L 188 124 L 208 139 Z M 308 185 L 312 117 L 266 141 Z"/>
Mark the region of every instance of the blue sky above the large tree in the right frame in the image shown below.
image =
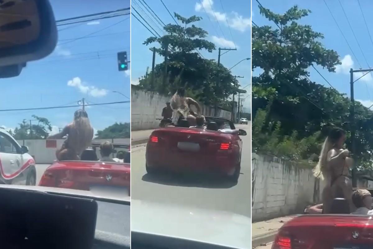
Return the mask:
<path id="1" fill-rule="evenodd" d="M 369 32 L 373 38 L 373 28 L 371 25 L 373 23 L 373 16 L 371 14 L 373 10 L 373 1 L 359 1 L 361 9 L 363 10 L 365 21 L 368 24 Z M 340 60 L 342 62 L 342 65 L 337 67 L 336 73 L 329 73 L 327 70 L 323 70 L 319 67 L 317 67 L 317 70 L 319 70 L 319 72 L 326 78 L 327 81 L 329 81 L 331 85 L 333 85 L 333 87 L 335 87 L 341 93 L 347 93 L 347 95 L 350 97 L 350 68 L 360 69 L 361 65 L 363 69 L 368 69 L 368 65 L 371 67 L 373 66 L 373 42 L 370 40 L 367 27 L 359 7 L 359 1 L 340 0 L 343 6 L 342 9 L 339 1 L 326 0 L 327 6 L 338 22 L 344 36 L 347 38 L 348 44 L 350 44 L 352 51 L 341 34 L 341 31 L 339 31 L 324 1 L 261 0 L 260 3 L 275 13 L 284 13 L 286 10 L 296 4 L 300 8 L 310 9 L 312 11 L 308 17 L 302 18 L 300 23 L 311 25 L 314 31 L 323 33 L 325 35 L 325 39 L 322 40 L 322 43 L 327 49 L 335 50 L 340 56 Z M 348 19 L 346 18 L 343 10 L 345 11 Z M 258 4 L 255 0 L 253 1 L 253 21 L 259 26 L 274 26 L 273 23 L 267 21 L 259 14 Z M 358 42 L 356 41 L 348 22 L 350 22 Z M 359 45 L 363 53 L 361 52 Z M 367 61 L 364 59 L 364 56 Z M 311 73 L 310 79 L 312 81 L 329 86 L 313 68 L 309 69 L 309 71 Z M 360 74 L 355 73 L 355 80 L 360 76 Z M 354 84 L 354 96 L 355 100 L 360 101 L 367 107 L 373 104 L 372 74 L 364 76 Z"/>

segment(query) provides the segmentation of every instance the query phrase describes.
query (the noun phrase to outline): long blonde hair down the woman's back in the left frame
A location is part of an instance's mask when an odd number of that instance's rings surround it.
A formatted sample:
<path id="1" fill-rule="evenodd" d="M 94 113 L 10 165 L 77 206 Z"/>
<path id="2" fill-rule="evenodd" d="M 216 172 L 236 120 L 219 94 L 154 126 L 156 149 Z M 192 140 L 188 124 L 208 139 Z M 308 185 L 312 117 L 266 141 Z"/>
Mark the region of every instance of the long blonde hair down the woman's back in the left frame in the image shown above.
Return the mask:
<path id="1" fill-rule="evenodd" d="M 90 124 L 90 120 L 88 119 L 88 114 L 84 110 L 78 110 L 74 113 L 74 119 L 72 123 L 72 134 L 76 141 L 71 145 L 75 148 L 75 150 L 85 150 L 89 147 L 92 143 L 93 139 L 93 128 Z M 69 136 L 71 136 L 69 134 Z M 82 151 L 77 151 L 81 153 Z"/>

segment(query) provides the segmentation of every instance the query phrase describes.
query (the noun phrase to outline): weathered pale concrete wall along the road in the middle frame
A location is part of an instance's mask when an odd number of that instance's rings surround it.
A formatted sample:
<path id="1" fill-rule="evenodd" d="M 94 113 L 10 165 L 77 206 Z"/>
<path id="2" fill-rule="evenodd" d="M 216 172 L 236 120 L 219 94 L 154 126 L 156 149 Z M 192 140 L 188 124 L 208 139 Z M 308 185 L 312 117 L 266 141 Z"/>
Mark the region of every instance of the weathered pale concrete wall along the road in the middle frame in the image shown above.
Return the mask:
<path id="1" fill-rule="evenodd" d="M 152 130 L 159 127 L 162 118 L 162 109 L 172 96 L 161 96 L 158 93 L 142 90 L 138 86 L 131 88 L 131 131 Z M 192 107 L 193 108 L 193 107 Z M 214 108 L 201 105 L 202 114 L 206 116 L 219 116 L 231 119 L 232 113 L 218 109 L 215 115 Z M 195 111 L 195 109 L 194 109 Z"/>

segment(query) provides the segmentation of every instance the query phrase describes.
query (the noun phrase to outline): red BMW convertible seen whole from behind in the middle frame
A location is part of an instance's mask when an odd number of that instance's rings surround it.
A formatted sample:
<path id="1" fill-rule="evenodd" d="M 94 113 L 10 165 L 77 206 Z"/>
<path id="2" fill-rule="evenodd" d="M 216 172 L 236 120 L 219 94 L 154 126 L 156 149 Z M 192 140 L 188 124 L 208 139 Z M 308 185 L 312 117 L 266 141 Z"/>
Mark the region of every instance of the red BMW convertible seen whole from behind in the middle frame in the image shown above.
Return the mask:
<path id="1" fill-rule="evenodd" d="M 227 176 L 237 182 L 241 168 L 244 130 L 238 134 L 218 131 L 216 121 L 223 120 L 225 129 L 235 130 L 229 119 L 206 116 L 206 130 L 189 128 L 188 121 L 176 126 L 154 130 L 146 147 L 146 171 L 157 173 L 159 169 L 175 172 L 212 173 Z"/>

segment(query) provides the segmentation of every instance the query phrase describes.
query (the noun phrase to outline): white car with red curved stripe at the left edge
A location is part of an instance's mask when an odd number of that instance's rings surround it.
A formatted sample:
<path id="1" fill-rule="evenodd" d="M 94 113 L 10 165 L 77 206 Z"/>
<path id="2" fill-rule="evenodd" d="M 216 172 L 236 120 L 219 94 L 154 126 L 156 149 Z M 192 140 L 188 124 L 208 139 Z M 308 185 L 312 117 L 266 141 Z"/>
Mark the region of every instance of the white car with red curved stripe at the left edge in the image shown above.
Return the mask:
<path id="1" fill-rule="evenodd" d="M 36 185 L 35 160 L 28 147 L 21 146 L 0 128 L 0 184 Z"/>

